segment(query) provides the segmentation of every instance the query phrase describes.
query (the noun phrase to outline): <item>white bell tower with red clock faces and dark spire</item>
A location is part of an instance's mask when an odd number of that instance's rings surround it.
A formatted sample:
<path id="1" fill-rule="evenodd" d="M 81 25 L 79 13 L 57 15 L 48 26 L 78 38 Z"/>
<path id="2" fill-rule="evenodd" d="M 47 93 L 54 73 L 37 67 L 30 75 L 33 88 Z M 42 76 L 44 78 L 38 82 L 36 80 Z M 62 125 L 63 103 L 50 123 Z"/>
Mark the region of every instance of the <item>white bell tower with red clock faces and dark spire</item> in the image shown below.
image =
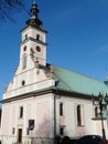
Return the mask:
<path id="1" fill-rule="evenodd" d="M 46 65 L 46 31 L 39 19 L 36 2 L 30 10 L 31 17 L 26 20 L 26 27 L 21 31 L 22 41 L 20 50 L 20 72 L 33 69 L 36 64 Z"/>

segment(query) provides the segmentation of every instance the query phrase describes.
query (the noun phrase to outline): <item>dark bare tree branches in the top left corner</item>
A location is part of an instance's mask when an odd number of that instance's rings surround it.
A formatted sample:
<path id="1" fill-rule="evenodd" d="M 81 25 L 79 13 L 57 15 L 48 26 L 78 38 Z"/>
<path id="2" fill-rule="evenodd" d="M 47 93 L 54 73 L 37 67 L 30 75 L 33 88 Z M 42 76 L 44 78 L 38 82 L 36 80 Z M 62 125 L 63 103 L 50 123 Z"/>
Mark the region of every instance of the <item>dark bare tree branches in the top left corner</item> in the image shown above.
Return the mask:
<path id="1" fill-rule="evenodd" d="M 0 21 L 9 19 L 13 21 L 13 16 L 24 8 L 23 0 L 0 0 Z"/>

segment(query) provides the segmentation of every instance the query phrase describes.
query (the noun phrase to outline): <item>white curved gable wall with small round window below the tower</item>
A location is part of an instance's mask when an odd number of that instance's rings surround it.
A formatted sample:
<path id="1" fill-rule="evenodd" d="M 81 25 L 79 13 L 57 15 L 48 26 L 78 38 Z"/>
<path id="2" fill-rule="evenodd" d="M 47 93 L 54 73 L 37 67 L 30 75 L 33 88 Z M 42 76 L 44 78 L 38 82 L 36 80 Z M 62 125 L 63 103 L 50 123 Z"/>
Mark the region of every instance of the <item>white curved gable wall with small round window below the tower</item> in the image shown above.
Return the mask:
<path id="1" fill-rule="evenodd" d="M 22 85 L 22 81 L 25 82 L 24 86 Z M 54 84 L 54 80 L 46 78 L 43 70 L 40 70 L 40 73 L 36 74 L 36 69 L 32 69 L 14 76 L 14 79 L 10 82 L 3 99 L 43 90 L 53 86 Z"/>

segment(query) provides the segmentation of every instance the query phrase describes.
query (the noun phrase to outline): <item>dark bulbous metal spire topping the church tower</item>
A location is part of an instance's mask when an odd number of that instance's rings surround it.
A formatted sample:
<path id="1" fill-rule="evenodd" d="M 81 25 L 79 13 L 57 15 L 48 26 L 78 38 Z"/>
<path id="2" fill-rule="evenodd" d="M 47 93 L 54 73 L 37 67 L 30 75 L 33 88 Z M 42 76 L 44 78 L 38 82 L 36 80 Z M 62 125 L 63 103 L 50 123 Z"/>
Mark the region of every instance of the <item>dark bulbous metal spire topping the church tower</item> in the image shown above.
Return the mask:
<path id="1" fill-rule="evenodd" d="M 37 4 L 35 0 L 33 0 L 32 9 L 30 10 L 31 18 L 26 21 L 28 25 L 33 25 L 36 28 L 42 28 L 42 21 L 39 19 L 37 13 L 39 13 Z"/>

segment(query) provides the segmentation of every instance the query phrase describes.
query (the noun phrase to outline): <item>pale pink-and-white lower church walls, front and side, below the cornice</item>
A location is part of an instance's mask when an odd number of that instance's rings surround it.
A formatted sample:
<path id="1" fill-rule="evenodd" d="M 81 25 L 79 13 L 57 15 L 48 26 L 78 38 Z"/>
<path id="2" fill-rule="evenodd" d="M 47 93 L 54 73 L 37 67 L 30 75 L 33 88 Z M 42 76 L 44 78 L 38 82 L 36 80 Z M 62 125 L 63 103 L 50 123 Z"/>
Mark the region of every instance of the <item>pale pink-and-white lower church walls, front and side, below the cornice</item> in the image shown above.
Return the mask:
<path id="1" fill-rule="evenodd" d="M 60 115 L 61 103 L 63 103 L 63 116 Z M 77 105 L 82 105 L 83 107 L 83 125 L 80 126 L 77 125 Z M 19 119 L 20 106 L 23 106 L 23 119 Z M 54 109 L 56 110 L 56 115 L 54 115 Z M 55 95 L 54 107 L 54 94 L 51 93 L 3 104 L 2 110 L 1 140 L 7 144 L 9 144 L 9 142 L 17 142 L 19 128 L 22 128 L 23 131 L 23 143 L 30 143 L 31 137 L 34 137 L 35 141 L 46 141 L 46 138 L 48 141 L 52 140 L 54 137 L 55 126 L 54 116 L 56 116 L 56 135 L 60 135 L 61 126 L 64 126 L 63 136 L 67 135 L 72 138 L 77 138 L 86 134 L 101 135 L 101 122 L 100 120 L 93 120 L 94 112 L 90 100 Z M 35 120 L 35 127 L 29 135 L 26 135 L 29 120 Z M 14 134 L 12 134 L 13 127 L 15 128 Z M 105 128 L 106 135 L 108 136 L 106 122 Z"/>

